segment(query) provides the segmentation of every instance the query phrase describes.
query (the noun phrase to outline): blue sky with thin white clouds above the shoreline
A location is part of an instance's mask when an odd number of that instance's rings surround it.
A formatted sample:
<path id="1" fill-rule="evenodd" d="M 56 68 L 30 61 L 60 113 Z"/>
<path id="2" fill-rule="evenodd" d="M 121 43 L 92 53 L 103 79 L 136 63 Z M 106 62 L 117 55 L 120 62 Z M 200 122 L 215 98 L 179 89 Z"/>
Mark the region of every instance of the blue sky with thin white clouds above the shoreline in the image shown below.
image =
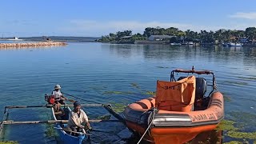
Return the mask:
<path id="1" fill-rule="evenodd" d="M 0 36 L 102 36 L 146 27 L 245 30 L 256 27 L 255 0 L 6 0 Z"/>

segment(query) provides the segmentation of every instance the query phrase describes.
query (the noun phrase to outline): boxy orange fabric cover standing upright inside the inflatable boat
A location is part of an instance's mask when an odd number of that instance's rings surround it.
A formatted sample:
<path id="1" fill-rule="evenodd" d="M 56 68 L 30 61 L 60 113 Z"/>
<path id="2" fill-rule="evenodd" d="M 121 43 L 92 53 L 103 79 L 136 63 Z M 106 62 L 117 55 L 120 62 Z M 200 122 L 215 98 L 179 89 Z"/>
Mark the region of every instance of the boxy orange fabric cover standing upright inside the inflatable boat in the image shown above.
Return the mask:
<path id="1" fill-rule="evenodd" d="M 195 77 L 177 82 L 157 82 L 155 103 L 158 110 L 190 111 L 194 104 Z"/>

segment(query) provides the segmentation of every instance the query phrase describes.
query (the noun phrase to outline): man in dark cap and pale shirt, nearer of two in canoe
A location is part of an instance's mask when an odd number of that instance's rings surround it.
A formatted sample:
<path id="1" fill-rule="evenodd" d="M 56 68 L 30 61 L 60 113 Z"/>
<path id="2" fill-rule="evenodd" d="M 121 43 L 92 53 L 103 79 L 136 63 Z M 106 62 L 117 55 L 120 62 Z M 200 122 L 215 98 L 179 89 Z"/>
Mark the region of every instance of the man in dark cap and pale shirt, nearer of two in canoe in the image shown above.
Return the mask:
<path id="1" fill-rule="evenodd" d="M 74 110 L 70 112 L 67 127 L 73 131 L 92 130 L 86 113 L 81 110 L 80 102 L 74 102 Z"/>

